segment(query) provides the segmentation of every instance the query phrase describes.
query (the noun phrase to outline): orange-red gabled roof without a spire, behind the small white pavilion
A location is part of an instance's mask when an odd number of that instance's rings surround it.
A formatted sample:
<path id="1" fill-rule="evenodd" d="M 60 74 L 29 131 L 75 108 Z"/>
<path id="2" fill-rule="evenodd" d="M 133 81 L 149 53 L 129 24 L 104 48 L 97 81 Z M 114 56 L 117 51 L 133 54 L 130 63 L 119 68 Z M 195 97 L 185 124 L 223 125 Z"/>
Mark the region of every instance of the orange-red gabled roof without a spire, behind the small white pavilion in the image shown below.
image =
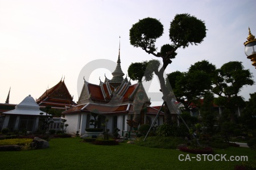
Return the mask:
<path id="1" fill-rule="evenodd" d="M 68 88 L 62 78 L 59 83 L 46 90 L 46 92 L 36 100 L 36 103 L 38 103 L 40 107 L 51 106 L 57 109 L 65 109 L 65 107 L 77 105 L 73 101 L 71 94 L 69 94 Z"/>

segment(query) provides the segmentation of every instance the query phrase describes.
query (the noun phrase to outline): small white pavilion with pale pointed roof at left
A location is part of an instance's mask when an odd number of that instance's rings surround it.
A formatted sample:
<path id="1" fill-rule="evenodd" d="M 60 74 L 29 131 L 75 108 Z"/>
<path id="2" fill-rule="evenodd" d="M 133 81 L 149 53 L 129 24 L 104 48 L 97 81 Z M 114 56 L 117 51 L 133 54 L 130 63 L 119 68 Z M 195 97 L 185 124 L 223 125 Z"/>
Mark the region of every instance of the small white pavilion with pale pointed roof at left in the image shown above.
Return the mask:
<path id="1" fill-rule="evenodd" d="M 39 126 L 39 117 L 42 116 L 40 113 L 46 116 L 45 112 L 40 111 L 40 106 L 36 103 L 35 99 L 28 95 L 15 106 L 15 109 L 2 113 L 5 116 L 2 128 L 36 131 Z"/>

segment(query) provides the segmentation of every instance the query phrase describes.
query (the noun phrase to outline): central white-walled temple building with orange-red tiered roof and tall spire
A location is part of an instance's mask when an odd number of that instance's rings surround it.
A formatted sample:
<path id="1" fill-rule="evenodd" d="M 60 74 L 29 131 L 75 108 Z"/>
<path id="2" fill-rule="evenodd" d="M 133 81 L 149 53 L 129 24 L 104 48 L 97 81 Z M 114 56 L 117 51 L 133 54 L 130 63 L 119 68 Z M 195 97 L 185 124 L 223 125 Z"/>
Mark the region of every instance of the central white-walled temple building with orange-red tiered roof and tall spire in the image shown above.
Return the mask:
<path id="1" fill-rule="evenodd" d="M 90 120 L 91 112 L 97 112 L 98 126 L 102 128 L 108 120 L 108 129 L 113 133 L 114 128 L 121 131 L 136 130 L 141 124 L 151 124 L 158 109 L 150 107 L 150 99 L 142 83 L 131 84 L 130 80 L 123 78 L 121 69 L 120 46 L 117 66 L 112 73 L 112 79 L 105 76 L 104 82 L 92 84 L 84 79 L 84 84 L 77 101 L 77 106 L 64 111 L 69 126 L 67 133 L 82 135 L 85 128 L 93 128 Z M 163 124 L 163 113 L 160 113 L 157 125 Z"/>

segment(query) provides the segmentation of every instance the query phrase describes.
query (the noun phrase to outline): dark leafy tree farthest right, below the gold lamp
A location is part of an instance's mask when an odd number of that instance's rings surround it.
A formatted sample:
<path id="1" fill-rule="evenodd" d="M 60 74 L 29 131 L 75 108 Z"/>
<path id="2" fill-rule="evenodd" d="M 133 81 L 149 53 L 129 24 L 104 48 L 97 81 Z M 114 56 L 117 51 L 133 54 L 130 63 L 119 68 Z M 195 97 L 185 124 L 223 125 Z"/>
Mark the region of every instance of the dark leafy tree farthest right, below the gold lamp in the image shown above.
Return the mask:
<path id="1" fill-rule="evenodd" d="M 213 79 L 213 92 L 218 95 L 214 100 L 217 105 L 223 106 L 229 113 L 230 121 L 235 121 L 237 107 L 245 106 L 245 101 L 238 94 L 243 86 L 252 86 L 254 80 L 249 70 L 243 68 L 242 62 L 230 61 L 217 70 Z"/>

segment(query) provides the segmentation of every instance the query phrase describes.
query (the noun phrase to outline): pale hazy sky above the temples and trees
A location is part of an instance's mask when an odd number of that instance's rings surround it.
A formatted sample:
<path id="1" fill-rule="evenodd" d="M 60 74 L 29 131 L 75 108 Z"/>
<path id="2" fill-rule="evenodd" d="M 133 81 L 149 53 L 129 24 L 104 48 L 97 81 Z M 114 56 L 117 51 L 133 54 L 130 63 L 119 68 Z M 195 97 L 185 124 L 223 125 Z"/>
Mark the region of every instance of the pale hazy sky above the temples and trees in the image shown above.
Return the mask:
<path id="1" fill-rule="evenodd" d="M 171 43 L 170 22 L 176 14 L 184 13 L 205 22 L 207 37 L 199 45 L 178 49 L 166 73 L 188 71 L 204 59 L 217 68 L 241 61 L 256 82 L 256 69 L 246 58 L 243 45 L 248 27 L 256 36 L 255 6 L 255 0 L 0 0 L 0 103 L 5 103 L 10 88 L 11 104 L 19 104 L 28 95 L 38 99 L 64 77 L 77 102 L 83 74 L 94 84 L 100 79 L 104 82 L 105 76 L 112 78 L 119 42 L 125 76 L 132 62 L 158 59 L 130 45 L 129 30 L 139 19 L 151 17 L 164 25 L 163 36 L 156 40 L 160 49 Z M 95 69 L 81 73 L 88 67 Z M 154 77 L 147 92 L 159 92 L 159 88 Z M 245 86 L 240 95 L 248 100 L 254 92 L 256 85 Z M 152 105 L 162 103 L 154 100 Z"/>

